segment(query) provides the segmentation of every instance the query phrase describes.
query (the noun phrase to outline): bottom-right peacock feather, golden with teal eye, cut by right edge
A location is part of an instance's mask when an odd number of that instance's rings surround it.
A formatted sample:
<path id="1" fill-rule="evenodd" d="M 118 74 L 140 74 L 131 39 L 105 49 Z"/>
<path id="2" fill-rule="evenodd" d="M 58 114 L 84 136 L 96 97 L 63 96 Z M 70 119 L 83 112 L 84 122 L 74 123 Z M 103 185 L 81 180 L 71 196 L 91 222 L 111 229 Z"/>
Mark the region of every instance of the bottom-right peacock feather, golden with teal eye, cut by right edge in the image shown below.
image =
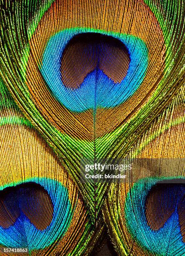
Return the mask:
<path id="1" fill-rule="evenodd" d="M 130 177 L 109 190 L 104 219 L 120 255 L 185 254 L 184 92 L 183 86 L 128 153 L 159 161 L 137 166 L 135 182 Z"/>

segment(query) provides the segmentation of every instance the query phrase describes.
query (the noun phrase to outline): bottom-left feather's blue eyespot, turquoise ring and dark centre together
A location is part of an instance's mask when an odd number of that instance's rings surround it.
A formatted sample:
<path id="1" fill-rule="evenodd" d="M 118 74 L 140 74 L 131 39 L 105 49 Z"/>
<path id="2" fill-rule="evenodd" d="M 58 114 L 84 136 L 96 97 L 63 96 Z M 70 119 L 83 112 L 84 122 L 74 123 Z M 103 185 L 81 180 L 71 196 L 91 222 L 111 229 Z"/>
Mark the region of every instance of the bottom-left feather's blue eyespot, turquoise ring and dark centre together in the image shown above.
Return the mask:
<path id="1" fill-rule="evenodd" d="M 2 189 L 0 198 L 0 237 L 4 246 L 43 249 L 58 240 L 58 233 L 61 238 L 66 233 L 72 217 L 71 203 L 67 189 L 60 183 L 46 178 L 23 180 Z"/>

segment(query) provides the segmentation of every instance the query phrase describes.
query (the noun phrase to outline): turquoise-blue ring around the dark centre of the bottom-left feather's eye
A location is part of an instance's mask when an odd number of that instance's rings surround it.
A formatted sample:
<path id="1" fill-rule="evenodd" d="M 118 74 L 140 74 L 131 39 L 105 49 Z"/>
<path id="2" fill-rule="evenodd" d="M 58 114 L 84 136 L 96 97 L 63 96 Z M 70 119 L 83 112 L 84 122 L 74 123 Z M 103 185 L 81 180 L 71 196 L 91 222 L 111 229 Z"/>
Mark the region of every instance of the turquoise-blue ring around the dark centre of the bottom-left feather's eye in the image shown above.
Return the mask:
<path id="1" fill-rule="evenodd" d="M 0 227 L 0 244 L 10 248 L 43 249 L 65 235 L 72 218 L 68 189 L 61 183 L 48 178 L 32 178 L 25 182 L 36 182 L 43 186 L 53 202 L 53 219 L 45 230 L 38 230 L 21 213 L 14 225 L 4 229 Z M 20 183 L 21 184 L 21 183 Z M 1 190 L 3 188 L 0 188 Z"/>

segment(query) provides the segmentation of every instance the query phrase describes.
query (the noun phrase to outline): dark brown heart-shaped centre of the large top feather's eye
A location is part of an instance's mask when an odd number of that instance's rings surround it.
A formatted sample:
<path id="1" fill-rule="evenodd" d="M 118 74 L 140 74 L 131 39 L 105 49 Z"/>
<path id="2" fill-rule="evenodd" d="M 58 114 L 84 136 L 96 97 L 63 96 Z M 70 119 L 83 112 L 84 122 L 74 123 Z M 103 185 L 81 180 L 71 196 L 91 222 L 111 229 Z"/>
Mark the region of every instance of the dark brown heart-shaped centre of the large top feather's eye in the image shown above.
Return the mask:
<path id="1" fill-rule="evenodd" d="M 61 59 L 61 79 L 71 89 L 78 88 L 86 76 L 101 70 L 114 83 L 127 74 L 130 57 L 126 46 L 112 36 L 82 33 L 67 44 Z"/>

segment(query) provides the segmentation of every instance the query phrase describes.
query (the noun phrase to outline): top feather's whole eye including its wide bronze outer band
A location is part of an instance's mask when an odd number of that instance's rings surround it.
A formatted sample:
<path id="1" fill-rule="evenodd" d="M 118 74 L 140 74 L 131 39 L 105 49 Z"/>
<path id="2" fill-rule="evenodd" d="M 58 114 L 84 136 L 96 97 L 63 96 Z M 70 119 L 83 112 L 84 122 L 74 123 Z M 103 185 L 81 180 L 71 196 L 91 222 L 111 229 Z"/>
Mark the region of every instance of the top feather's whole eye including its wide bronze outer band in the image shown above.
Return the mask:
<path id="1" fill-rule="evenodd" d="M 115 8 L 114 16 L 112 4 L 119 7 Z M 70 136 L 93 140 L 94 125 L 97 138 L 114 131 L 140 102 L 150 97 L 162 79 L 166 46 L 160 24 L 144 2 L 131 3 L 134 9 L 128 10 L 130 15 L 126 15 L 124 4 L 126 1 L 101 3 L 104 13 L 100 20 L 99 12 L 90 1 L 86 1 L 85 6 L 80 1 L 66 4 L 56 1 L 30 38 L 28 89 L 36 106 L 39 109 L 44 106 L 45 118 L 51 120 L 50 112 L 55 109 L 56 117 L 52 116 L 51 122 L 62 133 L 59 122 L 65 115 L 78 127 L 74 131 L 68 124 L 65 133 Z M 65 9 L 67 6 L 70 8 Z M 77 17 L 76 6 L 79 7 Z M 139 27 L 132 20 L 134 11 Z M 141 15 L 143 18 L 139 20 Z M 65 17 L 71 17 L 73 23 Z M 126 23 L 121 22 L 124 19 Z M 38 87 L 42 87 L 40 95 L 37 95 Z M 128 105 L 134 108 L 127 108 Z M 89 134 L 83 128 L 81 137 L 76 119 L 88 128 Z"/>

